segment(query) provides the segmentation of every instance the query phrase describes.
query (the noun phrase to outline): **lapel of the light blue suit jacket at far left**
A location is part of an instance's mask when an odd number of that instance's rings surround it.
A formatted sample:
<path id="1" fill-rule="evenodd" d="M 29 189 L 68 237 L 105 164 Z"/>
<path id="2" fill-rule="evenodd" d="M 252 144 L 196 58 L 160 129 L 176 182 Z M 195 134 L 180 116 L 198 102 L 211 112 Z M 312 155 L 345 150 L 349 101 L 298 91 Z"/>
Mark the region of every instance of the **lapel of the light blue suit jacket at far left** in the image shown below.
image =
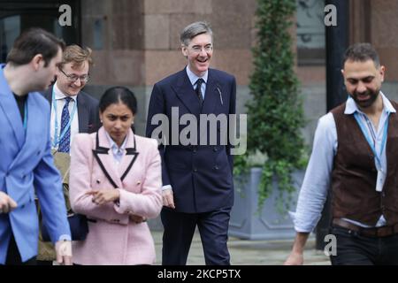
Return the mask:
<path id="1" fill-rule="evenodd" d="M 2 66 L 0 66 L 0 106 L 3 108 L 5 117 L 9 121 L 20 149 L 25 142 L 24 126 L 22 119 L 20 119 L 17 101 L 4 78 Z"/>

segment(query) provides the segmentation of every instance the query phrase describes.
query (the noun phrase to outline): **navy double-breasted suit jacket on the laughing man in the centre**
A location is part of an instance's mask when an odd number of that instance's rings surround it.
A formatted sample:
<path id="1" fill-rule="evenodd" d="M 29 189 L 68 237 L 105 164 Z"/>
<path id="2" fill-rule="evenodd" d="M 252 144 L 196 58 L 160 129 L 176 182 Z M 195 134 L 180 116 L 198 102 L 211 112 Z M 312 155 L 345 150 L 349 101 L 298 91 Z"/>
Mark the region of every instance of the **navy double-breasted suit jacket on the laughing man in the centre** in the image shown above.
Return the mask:
<path id="1" fill-rule="evenodd" d="M 200 128 L 200 114 L 234 114 L 236 82 L 232 75 L 209 69 L 204 103 L 201 109 L 186 70 L 174 73 L 157 82 L 152 90 L 147 119 L 147 136 L 158 125 L 151 119 L 163 113 L 169 119 L 172 137 L 172 107 L 177 107 L 179 118 L 195 115 Z M 174 111 L 175 112 L 175 111 Z M 186 125 L 179 126 L 178 134 Z M 231 144 L 220 142 L 223 130 L 217 126 L 217 144 L 160 145 L 163 185 L 172 185 L 176 210 L 187 213 L 208 212 L 233 205 L 233 158 Z M 210 130 L 207 131 L 209 138 Z M 225 132 L 224 132 L 225 133 Z M 228 134 L 226 131 L 225 134 Z M 175 134 L 174 134 L 175 135 Z M 199 137 L 199 133 L 197 134 Z M 172 139 L 170 139 L 172 143 Z"/>

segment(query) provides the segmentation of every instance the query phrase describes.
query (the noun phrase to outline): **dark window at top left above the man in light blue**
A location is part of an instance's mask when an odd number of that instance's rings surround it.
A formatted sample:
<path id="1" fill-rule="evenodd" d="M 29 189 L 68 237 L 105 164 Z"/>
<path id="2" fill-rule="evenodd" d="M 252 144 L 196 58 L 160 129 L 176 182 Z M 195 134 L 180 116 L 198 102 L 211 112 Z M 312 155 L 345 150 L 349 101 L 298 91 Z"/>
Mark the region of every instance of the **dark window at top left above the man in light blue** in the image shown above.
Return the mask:
<path id="1" fill-rule="evenodd" d="M 61 27 L 58 8 L 69 4 L 72 8 L 72 27 Z M 80 1 L 79 0 L 0 0 L 0 63 L 5 62 L 12 43 L 28 27 L 42 27 L 66 44 L 80 43 Z"/>

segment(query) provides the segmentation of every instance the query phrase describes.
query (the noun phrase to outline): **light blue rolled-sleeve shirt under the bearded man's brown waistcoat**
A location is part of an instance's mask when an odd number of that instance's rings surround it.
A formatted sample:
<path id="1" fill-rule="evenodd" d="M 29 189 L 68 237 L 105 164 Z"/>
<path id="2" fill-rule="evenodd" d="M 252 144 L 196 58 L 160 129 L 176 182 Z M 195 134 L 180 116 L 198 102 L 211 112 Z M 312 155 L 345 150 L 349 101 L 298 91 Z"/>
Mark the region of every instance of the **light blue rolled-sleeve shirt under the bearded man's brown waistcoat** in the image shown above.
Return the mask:
<path id="1" fill-rule="evenodd" d="M 368 123 L 368 121 L 371 122 L 371 120 L 363 111 L 358 109 L 354 99 L 351 97 L 348 97 L 346 109 L 344 111 L 344 114 L 347 115 L 358 112 L 358 116 L 362 119 L 364 125 L 371 125 L 371 128 L 369 126 L 365 126 L 364 128 L 368 131 L 367 134 L 369 134 L 370 137 L 372 136 L 371 131 L 376 135 L 375 148 L 377 152 L 379 152 L 381 147 L 384 126 L 386 124 L 386 119 L 388 119 L 388 114 L 395 112 L 393 105 L 388 101 L 387 97 L 381 93 L 381 91 L 380 95 L 383 99 L 384 111 L 381 113 L 377 130 L 372 123 Z M 291 216 L 295 223 L 295 230 L 297 232 L 310 233 L 318 224 L 324 207 L 327 191 L 330 187 L 333 159 L 337 153 L 337 145 L 336 124 L 334 122 L 333 114 L 329 112 L 318 121 L 310 163 L 308 164 L 304 180 L 302 181 L 302 188 L 297 202 L 297 208 L 295 212 L 291 212 Z M 380 162 L 383 171 L 387 172 L 386 147 L 382 150 Z M 344 219 L 358 226 L 369 227 L 354 220 L 347 218 Z M 381 216 L 376 226 L 383 225 L 386 225 L 386 219 Z"/>

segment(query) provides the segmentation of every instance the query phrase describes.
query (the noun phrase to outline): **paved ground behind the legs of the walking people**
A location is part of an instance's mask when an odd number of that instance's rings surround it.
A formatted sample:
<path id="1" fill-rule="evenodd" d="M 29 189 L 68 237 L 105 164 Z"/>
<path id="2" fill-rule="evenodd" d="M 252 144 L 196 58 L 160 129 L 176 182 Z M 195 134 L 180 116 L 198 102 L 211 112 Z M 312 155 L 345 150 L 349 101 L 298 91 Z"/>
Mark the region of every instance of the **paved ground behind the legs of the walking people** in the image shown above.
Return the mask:
<path id="1" fill-rule="evenodd" d="M 162 232 L 153 231 L 157 249 L 157 264 L 162 260 Z M 293 245 L 292 240 L 281 241 L 248 241 L 231 237 L 228 242 L 231 264 L 237 265 L 279 265 L 283 264 Z M 315 239 L 310 238 L 304 252 L 304 264 L 330 265 L 329 258 L 321 251 L 314 249 Z M 188 256 L 188 265 L 203 265 L 203 249 L 198 233 Z"/>

